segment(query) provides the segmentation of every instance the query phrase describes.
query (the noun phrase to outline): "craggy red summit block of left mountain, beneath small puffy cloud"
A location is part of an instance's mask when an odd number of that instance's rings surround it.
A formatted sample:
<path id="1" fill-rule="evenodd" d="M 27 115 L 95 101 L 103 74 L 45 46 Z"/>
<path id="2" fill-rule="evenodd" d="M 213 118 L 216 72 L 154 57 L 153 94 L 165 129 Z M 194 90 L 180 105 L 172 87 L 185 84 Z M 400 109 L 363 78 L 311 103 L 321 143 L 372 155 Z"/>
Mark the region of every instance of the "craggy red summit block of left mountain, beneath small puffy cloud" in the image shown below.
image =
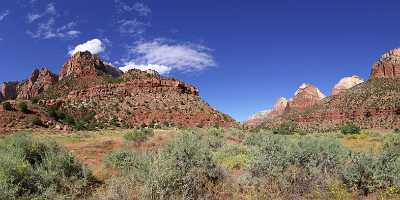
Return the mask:
<path id="1" fill-rule="evenodd" d="M 109 75 L 119 77 L 123 72 L 110 64 L 104 63 L 99 56 L 90 52 L 77 52 L 62 67 L 60 80 L 67 76 L 74 78 L 95 77 L 98 75 Z"/>

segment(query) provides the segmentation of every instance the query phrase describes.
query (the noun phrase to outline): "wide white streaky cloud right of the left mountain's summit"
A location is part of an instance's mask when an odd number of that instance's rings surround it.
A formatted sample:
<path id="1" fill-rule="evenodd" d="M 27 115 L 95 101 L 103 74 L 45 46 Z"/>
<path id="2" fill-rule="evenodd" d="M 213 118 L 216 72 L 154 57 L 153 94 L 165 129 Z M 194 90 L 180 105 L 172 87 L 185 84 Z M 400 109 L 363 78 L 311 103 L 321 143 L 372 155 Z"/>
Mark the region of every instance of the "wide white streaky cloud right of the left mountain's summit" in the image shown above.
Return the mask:
<path id="1" fill-rule="evenodd" d="M 173 70 L 199 71 L 216 65 L 209 48 L 191 43 L 180 44 L 158 39 L 137 43 L 129 51 L 133 59 L 124 59 L 126 68 L 151 67 L 161 74 Z"/>

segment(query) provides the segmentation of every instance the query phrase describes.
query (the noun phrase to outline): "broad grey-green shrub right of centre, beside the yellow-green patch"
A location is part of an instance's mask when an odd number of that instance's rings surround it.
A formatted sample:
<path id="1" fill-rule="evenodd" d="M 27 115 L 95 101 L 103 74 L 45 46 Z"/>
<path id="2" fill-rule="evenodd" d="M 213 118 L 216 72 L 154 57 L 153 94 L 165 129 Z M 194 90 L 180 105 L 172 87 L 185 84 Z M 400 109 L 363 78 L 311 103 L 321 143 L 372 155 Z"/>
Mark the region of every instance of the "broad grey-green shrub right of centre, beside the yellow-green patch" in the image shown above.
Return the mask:
<path id="1" fill-rule="evenodd" d="M 337 140 L 313 136 L 258 136 L 255 157 L 249 163 L 252 177 L 272 182 L 289 199 L 310 193 L 326 180 L 339 176 L 348 151 Z"/>

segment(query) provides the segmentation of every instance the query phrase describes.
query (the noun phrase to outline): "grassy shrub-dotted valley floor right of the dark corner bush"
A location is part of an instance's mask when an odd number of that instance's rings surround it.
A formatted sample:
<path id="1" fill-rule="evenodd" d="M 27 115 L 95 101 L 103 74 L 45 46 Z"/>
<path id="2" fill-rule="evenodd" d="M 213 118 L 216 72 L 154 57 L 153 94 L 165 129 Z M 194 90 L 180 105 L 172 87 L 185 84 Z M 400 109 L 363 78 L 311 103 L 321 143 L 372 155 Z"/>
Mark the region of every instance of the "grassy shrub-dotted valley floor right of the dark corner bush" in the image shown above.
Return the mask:
<path id="1" fill-rule="evenodd" d="M 55 141 L 92 171 L 100 185 L 82 199 L 400 199 L 400 180 L 389 184 L 343 169 L 353 169 L 353 154 L 378 163 L 388 139 L 398 135 L 391 130 L 312 136 L 216 128 L 30 134 Z"/>

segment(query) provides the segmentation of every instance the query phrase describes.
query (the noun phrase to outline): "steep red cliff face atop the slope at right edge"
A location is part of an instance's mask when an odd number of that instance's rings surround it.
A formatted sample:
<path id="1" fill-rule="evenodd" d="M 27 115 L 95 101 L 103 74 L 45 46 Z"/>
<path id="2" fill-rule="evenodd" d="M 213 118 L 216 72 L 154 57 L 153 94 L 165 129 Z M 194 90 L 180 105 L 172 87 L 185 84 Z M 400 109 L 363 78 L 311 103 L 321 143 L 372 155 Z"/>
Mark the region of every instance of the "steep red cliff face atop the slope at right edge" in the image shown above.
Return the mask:
<path id="1" fill-rule="evenodd" d="M 383 54 L 373 65 L 370 78 L 400 78 L 400 48 Z"/>

